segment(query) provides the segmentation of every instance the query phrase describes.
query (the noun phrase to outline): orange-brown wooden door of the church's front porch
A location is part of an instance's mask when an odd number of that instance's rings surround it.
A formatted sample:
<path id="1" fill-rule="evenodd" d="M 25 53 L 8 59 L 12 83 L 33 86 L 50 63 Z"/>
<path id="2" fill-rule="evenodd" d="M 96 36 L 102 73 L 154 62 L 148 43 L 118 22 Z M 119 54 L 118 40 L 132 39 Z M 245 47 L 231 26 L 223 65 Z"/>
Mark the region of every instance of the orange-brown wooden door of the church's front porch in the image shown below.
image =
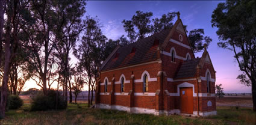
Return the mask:
<path id="1" fill-rule="evenodd" d="M 193 114 L 193 88 L 180 88 L 181 113 Z"/>

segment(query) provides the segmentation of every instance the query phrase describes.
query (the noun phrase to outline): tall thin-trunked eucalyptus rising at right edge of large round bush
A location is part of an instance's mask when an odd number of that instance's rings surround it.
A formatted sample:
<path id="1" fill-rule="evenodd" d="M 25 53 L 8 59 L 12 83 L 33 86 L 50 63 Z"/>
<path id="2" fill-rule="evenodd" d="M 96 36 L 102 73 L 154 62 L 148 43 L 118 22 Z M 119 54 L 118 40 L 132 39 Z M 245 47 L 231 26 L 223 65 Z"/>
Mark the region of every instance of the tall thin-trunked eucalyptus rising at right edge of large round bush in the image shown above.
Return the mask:
<path id="1" fill-rule="evenodd" d="M 57 50 L 57 57 L 63 62 L 64 70 L 64 86 L 65 86 L 65 97 L 67 99 L 67 86 L 71 87 L 70 81 L 70 69 L 69 60 L 70 52 L 75 47 L 76 41 L 80 33 L 84 30 L 84 23 L 81 19 L 86 13 L 86 2 L 85 1 L 57 1 L 57 16 L 61 23 L 56 25 L 54 34 L 58 38 L 58 43 L 54 44 Z M 69 85 L 67 85 L 69 83 Z M 72 91 L 69 91 L 69 102 L 72 102 Z"/>

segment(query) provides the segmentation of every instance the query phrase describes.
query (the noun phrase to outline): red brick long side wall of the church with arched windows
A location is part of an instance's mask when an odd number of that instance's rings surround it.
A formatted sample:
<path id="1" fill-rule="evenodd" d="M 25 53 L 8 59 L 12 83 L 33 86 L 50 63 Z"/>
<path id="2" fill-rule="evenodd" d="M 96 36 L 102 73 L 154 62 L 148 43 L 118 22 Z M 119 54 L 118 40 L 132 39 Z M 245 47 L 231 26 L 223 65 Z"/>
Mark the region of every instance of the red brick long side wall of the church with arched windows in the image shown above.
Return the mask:
<path id="1" fill-rule="evenodd" d="M 120 76 L 123 74 L 125 76 L 125 81 L 130 81 L 132 73 L 134 74 L 134 79 L 140 79 L 142 73 L 145 70 L 149 73 L 150 78 L 157 78 L 157 73 L 161 69 L 161 63 L 153 62 L 151 64 L 145 64 L 136 67 L 128 67 L 126 69 L 114 70 L 111 72 L 101 73 L 100 79 L 101 83 L 104 83 L 105 77 L 108 78 L 108 82 L 114 77 L 115 82 L 119 82 Z M 155 93 L 157 88 L 157 81 L 149 81 L 149 93 Z M 131 90 L 131 83 L 125 83 L 125 93 Z M 111 85 L 108 85 L 108 93 L 111 91 Z M 134 83 L 134 93 L 143 93 L 143 82 Z M 100 93 L 104 93 L 104 85 L 100 86 Z M 114 84 L 113 93 L 120 93 L 120 84 Z M 109 96 L 100 95 L 100 103 L 108 104 Z M 154 96 L 134 96 L 133 102 L 135 107 L 140 108 L 155 108 L 155 97 Z M 114 96 L 114 105 L 128 106 L 128 96 Z M 146 103 L 145 103 L 146 102 Z"/>

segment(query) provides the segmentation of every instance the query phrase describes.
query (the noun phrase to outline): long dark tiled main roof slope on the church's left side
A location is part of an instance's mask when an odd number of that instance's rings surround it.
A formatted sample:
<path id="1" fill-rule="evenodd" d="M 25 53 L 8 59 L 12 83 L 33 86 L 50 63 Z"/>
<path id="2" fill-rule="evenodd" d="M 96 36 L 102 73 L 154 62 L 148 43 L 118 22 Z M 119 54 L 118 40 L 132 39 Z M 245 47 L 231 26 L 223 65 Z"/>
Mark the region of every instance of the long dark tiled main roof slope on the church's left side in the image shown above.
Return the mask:
<path id="1" fill-rule="evenodd" d="M 166 40 L 170 30 L 171 28 L 164 29 L 157 34 L 143 38 L 136 43 L 120 47 L 113 55 L 108 57 L 110 59 L 104 61 L 105 65 L 102 66 L 101 71 L 157 60 L 158 46 L 161 46 L 161 44 L 164 43 L 164 40 Z M 156 40 L 158 42 L 156 42 Z M 133 50 L 134 52 L 132 52 Z M 119 56 L 116 57 L 116 54 L 119 54 Z"/>

